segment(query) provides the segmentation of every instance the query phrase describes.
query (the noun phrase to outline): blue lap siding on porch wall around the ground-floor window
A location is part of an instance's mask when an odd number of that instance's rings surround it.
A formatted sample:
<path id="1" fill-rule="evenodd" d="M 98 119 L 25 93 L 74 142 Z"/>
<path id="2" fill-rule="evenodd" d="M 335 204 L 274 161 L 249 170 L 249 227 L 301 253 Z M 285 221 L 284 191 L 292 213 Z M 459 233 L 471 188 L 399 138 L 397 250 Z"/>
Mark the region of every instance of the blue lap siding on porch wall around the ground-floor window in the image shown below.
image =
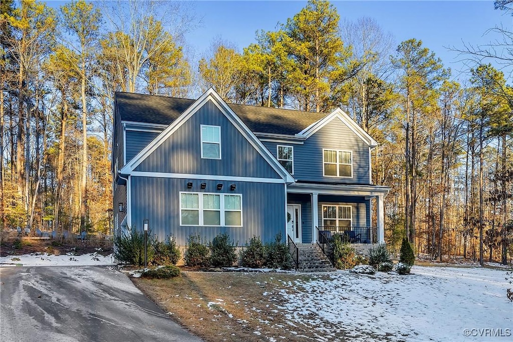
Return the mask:
<path id="1" fill-rule="evenodd" d="M 319 226 L 322 226 L 322 206 L 339 205 L 351 206 L 352 226 L 369 227 L 370 226 L 370 206 L 369 200 L 358 196 L 331 196 L 319 195 Z"/>

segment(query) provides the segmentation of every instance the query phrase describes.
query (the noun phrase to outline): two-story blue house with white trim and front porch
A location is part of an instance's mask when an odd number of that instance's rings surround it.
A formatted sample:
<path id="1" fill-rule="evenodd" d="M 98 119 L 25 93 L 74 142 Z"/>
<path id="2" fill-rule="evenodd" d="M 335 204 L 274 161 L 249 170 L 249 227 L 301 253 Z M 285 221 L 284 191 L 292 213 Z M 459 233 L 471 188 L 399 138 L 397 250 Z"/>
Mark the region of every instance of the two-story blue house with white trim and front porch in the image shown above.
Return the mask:
<path id="1" fill-rule="evenodd" d="M 376 146 L 340 109 L 227 104 L 212 89 L 196 100 L 116 92 L 114 226 L 147 224 L 179 246 L 224 232 L 239 245 L 279 232 L 310 244 L 318 230 L 381 243 L 388 188 L 371 184 Z"/>

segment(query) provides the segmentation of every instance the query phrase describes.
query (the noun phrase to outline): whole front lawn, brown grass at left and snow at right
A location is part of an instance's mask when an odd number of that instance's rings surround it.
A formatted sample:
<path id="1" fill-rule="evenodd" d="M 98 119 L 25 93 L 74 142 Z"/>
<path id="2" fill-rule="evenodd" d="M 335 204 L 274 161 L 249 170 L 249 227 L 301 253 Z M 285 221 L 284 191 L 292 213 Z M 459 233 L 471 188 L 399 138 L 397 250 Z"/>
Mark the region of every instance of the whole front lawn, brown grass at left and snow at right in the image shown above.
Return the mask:
<path id="1" fill-rule="evenodd" d="M 207 341 L 511 340 L 504 270 L 415 266 L 412 273 L 183 272 L 134 282 Z"/>

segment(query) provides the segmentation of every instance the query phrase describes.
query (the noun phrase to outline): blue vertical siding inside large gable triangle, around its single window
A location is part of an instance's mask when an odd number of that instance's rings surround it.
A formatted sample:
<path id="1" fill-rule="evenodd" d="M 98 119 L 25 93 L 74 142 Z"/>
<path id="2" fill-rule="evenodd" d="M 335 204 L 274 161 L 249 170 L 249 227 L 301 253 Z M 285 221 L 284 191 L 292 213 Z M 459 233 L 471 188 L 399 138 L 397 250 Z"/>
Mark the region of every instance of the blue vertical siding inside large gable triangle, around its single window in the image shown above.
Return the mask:
<path id="1" fill-rule="evenodd" d="M 201 157 L 201 125 L 221 127 L 221 159 Z M 281 178 L 211 100 L 135 171 Z"/>

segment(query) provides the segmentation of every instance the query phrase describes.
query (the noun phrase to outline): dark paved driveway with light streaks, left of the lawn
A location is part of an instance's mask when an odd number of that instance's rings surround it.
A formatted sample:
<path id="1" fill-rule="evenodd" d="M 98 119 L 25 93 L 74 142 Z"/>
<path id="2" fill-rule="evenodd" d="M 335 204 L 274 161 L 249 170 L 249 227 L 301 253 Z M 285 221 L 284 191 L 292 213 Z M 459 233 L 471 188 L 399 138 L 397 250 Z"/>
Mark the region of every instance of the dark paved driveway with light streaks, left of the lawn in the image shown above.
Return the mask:
<path id="1" fill-rule="evenodd" d="M 2 342 L 201 341 L 107 267 L 3 267 L 0 282 Z"/>

